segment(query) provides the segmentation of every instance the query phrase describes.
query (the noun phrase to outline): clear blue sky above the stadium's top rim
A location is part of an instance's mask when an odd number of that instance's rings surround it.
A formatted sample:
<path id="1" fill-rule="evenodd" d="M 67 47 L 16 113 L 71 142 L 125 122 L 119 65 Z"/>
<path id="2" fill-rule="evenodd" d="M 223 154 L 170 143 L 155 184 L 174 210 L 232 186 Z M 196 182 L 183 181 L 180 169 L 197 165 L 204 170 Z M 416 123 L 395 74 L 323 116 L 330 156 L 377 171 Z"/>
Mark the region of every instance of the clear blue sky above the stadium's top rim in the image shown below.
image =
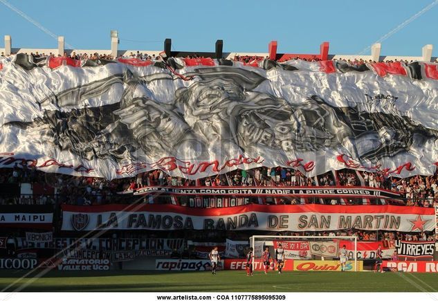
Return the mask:
<path id="1" fill-rule="evenodd" d="M 109 32 L 118 30 L 119 49 L 162 50 L 170 37 L 172 50 L 214 51 L 223 39 L 225 52 L 267 52 L 275 39 L 279 53 L 318 53 L 329 41 L 331 54 L 345 55 L 359 53 L 433 2 L 0 0 L 1 40 L 11 35 L 12 47 L 23 48 L 55 48 L 57 42 L 1 1 L 75 48 L 110 48 Z M 382 42 L 382 55 L 419 56 L 423 45 L 434 44 L 437 56 L 437 29 L 438 5 Z"/>

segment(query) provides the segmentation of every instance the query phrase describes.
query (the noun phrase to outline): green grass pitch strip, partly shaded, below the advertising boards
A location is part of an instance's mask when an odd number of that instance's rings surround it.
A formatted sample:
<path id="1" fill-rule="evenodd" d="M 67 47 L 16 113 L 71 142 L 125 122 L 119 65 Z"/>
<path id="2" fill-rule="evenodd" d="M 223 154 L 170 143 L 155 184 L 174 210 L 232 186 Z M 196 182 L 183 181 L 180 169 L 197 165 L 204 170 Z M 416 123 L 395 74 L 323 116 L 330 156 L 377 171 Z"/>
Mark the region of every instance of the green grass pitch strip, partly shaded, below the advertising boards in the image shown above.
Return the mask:
<path id="1" fill-rule="evenodd" d="M 244 271 L 164 273 L 145 271 L 50 271 L 43 277 L 24 277 L 26 271 L 0 271 L 0 291 L 241 291 L 241 292 L 385 292 L 438 291 L 432 273 L 285 272 L 282 275 Z"/>

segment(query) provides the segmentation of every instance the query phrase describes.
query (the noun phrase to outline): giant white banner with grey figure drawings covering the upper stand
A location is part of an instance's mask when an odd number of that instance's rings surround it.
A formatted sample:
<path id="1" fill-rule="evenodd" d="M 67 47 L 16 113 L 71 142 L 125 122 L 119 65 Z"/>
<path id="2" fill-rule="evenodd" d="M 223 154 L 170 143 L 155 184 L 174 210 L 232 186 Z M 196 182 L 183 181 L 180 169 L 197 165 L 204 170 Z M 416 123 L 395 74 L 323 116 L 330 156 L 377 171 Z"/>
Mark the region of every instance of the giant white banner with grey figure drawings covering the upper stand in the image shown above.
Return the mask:
<path id="1" fill-rule="evenodd" d="M 435 64 L 207 61 L 181 61 L 172 72 L 163 62 L 0 58 L 8 83 L 0 167 L 27 161 L 108 179 L 158 168 L 194 179 L 262 165 L 308 176 L 345 167 L 435 172 Z M 426 76 L 414 73 L 422 69 Z"/>

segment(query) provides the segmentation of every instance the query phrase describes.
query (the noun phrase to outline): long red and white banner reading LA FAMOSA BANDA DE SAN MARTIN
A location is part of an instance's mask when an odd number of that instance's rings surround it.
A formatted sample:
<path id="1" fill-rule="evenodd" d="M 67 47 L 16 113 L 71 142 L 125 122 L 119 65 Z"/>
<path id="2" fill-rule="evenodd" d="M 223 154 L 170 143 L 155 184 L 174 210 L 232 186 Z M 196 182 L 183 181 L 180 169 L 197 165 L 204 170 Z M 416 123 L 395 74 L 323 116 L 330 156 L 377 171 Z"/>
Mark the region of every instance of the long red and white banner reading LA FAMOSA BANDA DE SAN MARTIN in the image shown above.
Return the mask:
<path id="1" fill-rule="evenodd" d="M 434 208 L 405 206 L 256 205 L 186 208 L 131 204 L 62 206 L 62 230 L 268 230 L 340 229 L 421 232 L 435 229 Z"/>

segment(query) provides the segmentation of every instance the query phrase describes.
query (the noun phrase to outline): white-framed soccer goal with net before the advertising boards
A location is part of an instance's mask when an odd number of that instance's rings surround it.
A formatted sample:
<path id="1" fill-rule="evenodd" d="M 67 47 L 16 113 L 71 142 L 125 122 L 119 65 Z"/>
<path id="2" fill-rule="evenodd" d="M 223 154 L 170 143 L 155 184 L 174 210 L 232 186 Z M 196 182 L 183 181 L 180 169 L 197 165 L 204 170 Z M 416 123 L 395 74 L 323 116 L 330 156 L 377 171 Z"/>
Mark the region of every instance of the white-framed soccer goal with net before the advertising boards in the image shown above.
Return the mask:
<path id="1" fill-rule="evenodd" d="M 254 235 L 250 237 L 250 246 L 254 249 L 254 269 L 261 268 L 262 255 L 266 248 L 271 253 L 271 258 L 275 259 L 275 250 L 280 244 L 282 244 L 286 262 L 293 260 L 292 262 L 295 262 L 295 264 L 300 263 L 295 267 L 300 271 L 340 271 L 340 253 L 343 246 L 347 250 L 347 252 L 343 251 L 342 253 L 347 253 L 349 271 L 361 270 L 361 268 L 358 268 L 357 237 L 355 236 L 276 235 Z M 305 262 L 306 260 L 307 262 Z"/>

